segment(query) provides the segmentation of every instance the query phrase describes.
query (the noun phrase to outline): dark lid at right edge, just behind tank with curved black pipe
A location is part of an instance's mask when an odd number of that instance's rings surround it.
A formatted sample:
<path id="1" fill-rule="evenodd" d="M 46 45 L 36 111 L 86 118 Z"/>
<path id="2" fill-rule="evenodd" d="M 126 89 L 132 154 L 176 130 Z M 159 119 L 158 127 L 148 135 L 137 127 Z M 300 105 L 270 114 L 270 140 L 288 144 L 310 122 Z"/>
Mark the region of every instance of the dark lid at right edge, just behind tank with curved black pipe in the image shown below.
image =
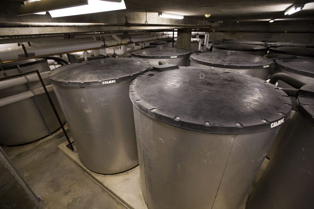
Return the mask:
<path id="1" fill-rule="evenodd" d="M 287 54 L 292 56 L 306 56 L 306 57 L 314 57 L 314 49 L 313 48 L 304 48 L 298 46 L 281 46 L 278 48 L 269 47 L 269 51 Z"/>

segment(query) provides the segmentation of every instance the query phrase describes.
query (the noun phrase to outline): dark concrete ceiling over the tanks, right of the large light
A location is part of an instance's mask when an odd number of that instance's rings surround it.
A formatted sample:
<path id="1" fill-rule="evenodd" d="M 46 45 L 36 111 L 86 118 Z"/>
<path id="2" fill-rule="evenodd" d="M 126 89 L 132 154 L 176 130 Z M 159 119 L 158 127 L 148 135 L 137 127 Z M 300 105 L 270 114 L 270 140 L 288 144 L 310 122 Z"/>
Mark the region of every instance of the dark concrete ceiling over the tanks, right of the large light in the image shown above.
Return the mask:
<path id="1" fill-rule="evenodd" d="M 23 0 L 11 0 L 11 2 L 23 2 Z M 288 20 L 312 20 L 314 19 L 314 2 L 291 0 L 124 0 L 127 11 L 145 12 L 149 15 L 158 12 L 168 12 L 185 15 L 186 18 L 201 19 L 204 21 L 254 21 L 288 19 Z M 284 10 L 294 3 L 306 3 L 302 11 L 284 15 Z M 211 14 L 210 18 L 204 18 L 204 14 Z"/>

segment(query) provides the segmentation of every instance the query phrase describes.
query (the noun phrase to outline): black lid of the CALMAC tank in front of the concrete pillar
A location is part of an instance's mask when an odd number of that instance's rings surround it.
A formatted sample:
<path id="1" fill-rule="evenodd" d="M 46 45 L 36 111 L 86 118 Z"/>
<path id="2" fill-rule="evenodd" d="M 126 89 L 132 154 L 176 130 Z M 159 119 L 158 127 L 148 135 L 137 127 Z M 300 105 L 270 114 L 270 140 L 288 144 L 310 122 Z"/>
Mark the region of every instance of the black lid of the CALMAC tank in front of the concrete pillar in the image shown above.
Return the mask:
<path id="1" fill-rule="evenodd" d="M 191 54 L 190 51 L 179 48 L 154 47 L 132 51 L 131 55 L 148 59 L 171 59 L 185 57 Z"/>

